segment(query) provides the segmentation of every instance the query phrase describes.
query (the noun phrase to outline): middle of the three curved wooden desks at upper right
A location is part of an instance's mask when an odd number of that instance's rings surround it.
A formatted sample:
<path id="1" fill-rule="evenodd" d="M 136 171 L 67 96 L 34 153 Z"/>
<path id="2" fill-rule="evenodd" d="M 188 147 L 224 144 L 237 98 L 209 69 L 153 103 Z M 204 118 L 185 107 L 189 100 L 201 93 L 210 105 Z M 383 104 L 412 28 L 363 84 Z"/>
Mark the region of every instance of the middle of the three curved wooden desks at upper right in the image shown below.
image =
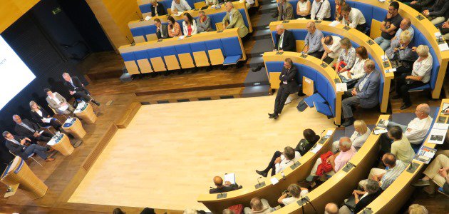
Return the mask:
<path id="1" fill-rule="evenodd" d="M 276 31 L 276 26 L 279 24 L 283 24 L 284 28 L 287 30 L 294 30 L 294 29 L 306 29 L 306 24 L 310 20 L 290 20 L 288 23 L 282 23 L 282 21 L 273 21 L 269 24 L 270 31 Z M 368 51 L 368 54 L 370 54 L 374 61 L 376 61 L 376 64 L 378 68 L 380 69 L 380 73 L 383 77 L 383 93 L 382 93 L 382 101 L 380 103 L 381 105 L 381 112 L 386 113 L 388 108 L 388 97 L 390 94 L 390 86 L 391 86 L 391 80 L 394 78 L 393 73 L 386 73 L 385 71 L 387 69 L 391 68 L 391 63 L 388 61 L 388 66 L 384 66 L 382 63 L 383 50 L 381 49 L 381 46 L 378 46 L 378 44 L 368 44 L 369 41 L 373 41 L 368 36 L 363 34 L 361 31 L 357 31 L 356 29 L 349 29 L 345 30 L 343 24 L 339 24 L 335 27 L 329 26 L 331 24 L 330 21 L 321 21 L 321 23 L 316 23 L 316 28 L 323 32 L 329 32 L 331 34 L 336 34 L 343 37 L 348 37 L 351 39 L 351 41 L 355 42 L 359 46 L 364 46 L 366 50 Z M 273 34 L 272 34 L 273 36 Z M 305 36 L 304 36 L 305 37 Z M 274 41 L 274 38 L 272 38 L 272 41 Z M 296 40 L 296 51 L 301 52 L 304 47 L 304 41 Z M 311 57 L 313 58 L 313 57 Z M 321 63 L 321 60 L 320 60 Z M 335 71 L 331 69 L 332 76 L 335 76 Z"/>

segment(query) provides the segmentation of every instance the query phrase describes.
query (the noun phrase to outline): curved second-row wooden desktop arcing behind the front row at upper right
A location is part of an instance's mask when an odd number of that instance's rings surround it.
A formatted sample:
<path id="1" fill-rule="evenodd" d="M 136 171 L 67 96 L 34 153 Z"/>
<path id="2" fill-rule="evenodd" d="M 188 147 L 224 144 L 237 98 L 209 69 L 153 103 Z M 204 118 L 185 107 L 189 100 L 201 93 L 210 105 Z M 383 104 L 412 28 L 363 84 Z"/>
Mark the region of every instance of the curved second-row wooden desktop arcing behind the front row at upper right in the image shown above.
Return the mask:
<path id="1" fill-rule="evenodd" d="M 274 21 L 269 24 L 269 29 L 272 31 L 272 40 L 273 43 L 277 42 L 275 41 L 274 35 L 276 34 L 276 26 L 279 24 L 283 24 L 284 28 L 292 31 L 294 34 L 294 37 L 296 39 L 296 51 L 301 52 L 304 47 L 304 39 L 306 37 L 307 31 L 306 31 L 306 24 L 310 20 L 291 20 L 287 23 L 284 23 L 283 21 Z M 370 58 L 373 59 L 373 61 L 376 63 L 376 68 L 378 71 L 380 71 L 382 77 L 381 77 L 381 88 L 379 92 L 379 103 L 381 106 L 381 112 L 386 113 L 388 108 L 388 96 L 390 93 L 390 86 L 391 86 L 391 80 L 394 78 L 393 73 L 386 73 L 385 71 L 391 68 L 391 63 L 388 61 L 387 64 L 383 64 L 382 56 L 384 54 L 383 50 L 381 49 L 381 46 L 378 46 L 378 44 L 374 43 L 368 36 L 361 33 L 361 31 L 357 31 L 356 29 L 344 29 L 343 24 L 339 24 L 337 26 L 329 26 L 331 24 L 330 21 L 321 21 L 320 23 L 316 23 L 316 28 L 323 32 L 324 36 L 327 35 L 335 35 L 335 36 L 341 36 L 341 37 L 348 37 L 351 39 L 351 42 L 353 43 L 353 46 L 365 46 L 366 50 L 368 51 L 368 54 L 370 55 Z M 370 42 L 370 43 L 368 43 Z M 310 57 L 314 58 L 314 57 Z M 321 63 L 321 61 L 320 61 Z M 329 66 L 330 67 L 330 66 Z M 331 76 L 336 76 L 336 73 L 334 69 L 331 69 L 332 73 Z M 273 80 L 273 78 L 270 78 L 270 83 Z M 272 83 L 272 88 L 276 88 L 277 85 Z"/>

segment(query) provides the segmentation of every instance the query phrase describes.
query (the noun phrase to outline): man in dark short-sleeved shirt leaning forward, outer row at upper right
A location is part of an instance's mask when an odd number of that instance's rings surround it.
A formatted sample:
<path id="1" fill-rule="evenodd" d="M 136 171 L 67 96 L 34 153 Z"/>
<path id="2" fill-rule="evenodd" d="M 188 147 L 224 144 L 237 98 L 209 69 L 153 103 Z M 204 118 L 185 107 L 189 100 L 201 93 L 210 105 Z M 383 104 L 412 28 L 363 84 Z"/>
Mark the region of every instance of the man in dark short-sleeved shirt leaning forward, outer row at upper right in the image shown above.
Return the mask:
<path id="1" fill-rule="evenodd" d="M 388 49 L 391 39 L 393 39 L 401 25 L 402 16 L 398 14 L 398 10 L 399 3 L 397 1 L 391 2 L 390 6 L 388 6 L 388 13 L 381 23 L 381 36 L 374 39 L 383 51 Z"/>

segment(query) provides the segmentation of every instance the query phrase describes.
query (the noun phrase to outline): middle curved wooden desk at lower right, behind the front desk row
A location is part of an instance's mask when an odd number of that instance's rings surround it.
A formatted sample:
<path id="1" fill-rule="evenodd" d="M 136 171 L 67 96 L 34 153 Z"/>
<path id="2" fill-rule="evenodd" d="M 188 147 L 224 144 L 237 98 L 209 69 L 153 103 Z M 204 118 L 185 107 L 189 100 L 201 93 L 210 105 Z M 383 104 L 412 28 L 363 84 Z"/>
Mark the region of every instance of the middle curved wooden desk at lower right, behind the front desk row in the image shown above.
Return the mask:
<path id="1" fill-rule="evenodd" d="M 381 115 L 378 121 L 381 119 L 388 120 L 389 117 L 389 115 Z M 377 158 L 378 138 L 379 136 L 371 133 L 360 150 L 351 158 L 349 163 L 352 163 L 355 167 L 349 169 L 348 172 L 345 172 L 345 168 L 342 168 L 329 180 L 307 194 L 318 213 L 324 213 L 324 207 L 327 203 L 342 203 L 348 195 L 351 195 L 358 185 L 358 181 L 366 178 Z M 304 213 L 314 213 L 314 209 L 309 203 L 306 205 L 299 205 L 299 203 L 289 204 L 273 213 L 302 213 L 303 207 Z"/>

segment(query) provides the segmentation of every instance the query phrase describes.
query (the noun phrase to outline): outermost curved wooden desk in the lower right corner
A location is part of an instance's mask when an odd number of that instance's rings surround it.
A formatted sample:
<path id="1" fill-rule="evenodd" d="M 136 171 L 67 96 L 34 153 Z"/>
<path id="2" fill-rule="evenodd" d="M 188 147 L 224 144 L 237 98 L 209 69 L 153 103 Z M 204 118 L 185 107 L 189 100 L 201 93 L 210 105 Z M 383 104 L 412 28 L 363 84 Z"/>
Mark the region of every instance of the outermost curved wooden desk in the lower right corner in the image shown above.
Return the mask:
<path id="1" fill-rule="evenodd" d="M 438 117 L 443 109 L 443 103 L 449 103 L 449 99 L 443 99 L 441 101 Z M 447 120 L 449 120 L 449 116 L 445 115 L 444 117 L 446 117 L 447 122 Z M 438 118 L 434 118 L 434 121 L 438 121 Z M 426 138 L 423 146 L 435 148 L 436 144 L 427 142 L 429 138 L 430 135 Z M 407 170 L 403 171 L 403 173 L 401 173 L 401 175 L 399 175 L 399 177 L 396 178 L 396 180 L 391 183 L 391 185 L 386 188 L 386 190 L 384 190 L 378 198 L 376 198 L 376 200 L 373 200 L 373 202 L 366 207 L 371 208 L 374 213 L 398 213 L 408 198 L 410 198 L 413 190 L 415 190 L 415 188 L 411 185 L 412 181 L 416 180 L 417 176 L 421 176 L 421 171 L 425 166 L 424 163 L 419 161 L 413 160 L 412 162 L 413 164 L 416 164 L 416 170 L 413 173 L 410 173 Z"/>

